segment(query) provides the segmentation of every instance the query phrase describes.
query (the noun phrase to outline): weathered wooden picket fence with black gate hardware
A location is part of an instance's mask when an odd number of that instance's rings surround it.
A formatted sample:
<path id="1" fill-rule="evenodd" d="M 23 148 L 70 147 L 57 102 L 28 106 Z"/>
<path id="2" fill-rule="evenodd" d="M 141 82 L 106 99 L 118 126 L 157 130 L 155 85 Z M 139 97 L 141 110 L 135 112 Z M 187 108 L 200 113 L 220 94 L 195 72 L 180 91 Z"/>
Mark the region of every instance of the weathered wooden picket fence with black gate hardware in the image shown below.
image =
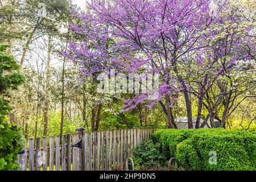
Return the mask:
<path id="1" fill-rule="evenodd" d="M 25 140 L 19 171 L 108 171 L 125 168 L 132 150 L 154 129 L 124 129 Z M 28 143 L 28 145 L 27 145 Z M 74 146 L 75 145 L 75 146 Z M 28 148 L 28 149 L 27 149 Z"/>

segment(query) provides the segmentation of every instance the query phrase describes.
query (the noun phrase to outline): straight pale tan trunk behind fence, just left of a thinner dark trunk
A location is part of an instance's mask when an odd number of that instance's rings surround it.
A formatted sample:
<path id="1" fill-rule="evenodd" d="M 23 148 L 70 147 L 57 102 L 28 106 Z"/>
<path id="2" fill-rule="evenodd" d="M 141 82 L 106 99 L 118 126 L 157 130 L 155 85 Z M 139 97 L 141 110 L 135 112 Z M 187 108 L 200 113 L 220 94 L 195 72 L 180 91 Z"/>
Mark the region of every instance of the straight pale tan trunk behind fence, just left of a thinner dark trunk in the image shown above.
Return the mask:
<path id="1" fill-rule="evenodd" d="M 46 65 L 46 88 L 45 88 L 45 105 L 44 105 L 44 135 L 47 135 L 48 127 L 48 109 L 49 109 L 49 81 L 50 81 L 50 62 L 52 49 L 52 36 L 48 35 L 48 54 Z"/>

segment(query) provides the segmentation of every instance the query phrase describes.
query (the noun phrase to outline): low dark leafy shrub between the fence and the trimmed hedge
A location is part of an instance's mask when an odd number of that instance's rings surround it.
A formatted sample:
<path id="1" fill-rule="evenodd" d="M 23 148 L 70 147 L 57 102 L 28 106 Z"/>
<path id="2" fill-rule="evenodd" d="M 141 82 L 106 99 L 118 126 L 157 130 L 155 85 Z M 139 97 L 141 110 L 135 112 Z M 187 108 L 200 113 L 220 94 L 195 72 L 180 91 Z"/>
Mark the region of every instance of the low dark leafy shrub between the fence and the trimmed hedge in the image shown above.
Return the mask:
<path id="1" fill-rule="evenodd" d="M 165 158 L 160 152 L 160 144 L 154 143 L 152 139 L 144 140 L 133 152 L 136 169 L 141 166 L 160 167 L 165 162 Z"/>

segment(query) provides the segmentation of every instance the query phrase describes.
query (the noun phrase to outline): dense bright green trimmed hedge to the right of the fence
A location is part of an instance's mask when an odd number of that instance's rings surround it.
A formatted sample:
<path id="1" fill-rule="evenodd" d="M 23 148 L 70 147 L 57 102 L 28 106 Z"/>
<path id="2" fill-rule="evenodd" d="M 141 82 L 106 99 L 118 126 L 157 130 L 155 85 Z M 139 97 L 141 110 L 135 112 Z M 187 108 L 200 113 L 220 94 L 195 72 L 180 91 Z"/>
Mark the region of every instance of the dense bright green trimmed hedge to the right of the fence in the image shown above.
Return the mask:
<path id="1" fill-rule="evenodd" d="M 152 134 L 168 159 L 191 170 L 256 170 L 256 132 L 196 129 L 157 130 Z M 216 152 L 216 164 L 210 164 Z"/>

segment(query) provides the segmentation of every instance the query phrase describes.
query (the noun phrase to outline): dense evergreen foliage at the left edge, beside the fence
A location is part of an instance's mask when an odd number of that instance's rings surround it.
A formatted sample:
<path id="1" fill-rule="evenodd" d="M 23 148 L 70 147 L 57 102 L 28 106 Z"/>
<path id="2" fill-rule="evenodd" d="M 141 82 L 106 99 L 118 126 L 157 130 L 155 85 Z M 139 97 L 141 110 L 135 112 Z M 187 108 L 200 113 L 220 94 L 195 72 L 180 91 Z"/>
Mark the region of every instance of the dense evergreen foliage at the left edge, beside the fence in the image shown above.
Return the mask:
<path id="1" fill-rule="evenodd" d="M 0 46 L 0 170 L 14 170 L 18 167 L 15 160 L 23 143 L 19 127 L 7 123 L 6 115 L 11 110 L 7 98 L 9 90 L 17 89 L 24 77 L 18 72 L 14 57 L 5 53 L 6 48 Z"/>

